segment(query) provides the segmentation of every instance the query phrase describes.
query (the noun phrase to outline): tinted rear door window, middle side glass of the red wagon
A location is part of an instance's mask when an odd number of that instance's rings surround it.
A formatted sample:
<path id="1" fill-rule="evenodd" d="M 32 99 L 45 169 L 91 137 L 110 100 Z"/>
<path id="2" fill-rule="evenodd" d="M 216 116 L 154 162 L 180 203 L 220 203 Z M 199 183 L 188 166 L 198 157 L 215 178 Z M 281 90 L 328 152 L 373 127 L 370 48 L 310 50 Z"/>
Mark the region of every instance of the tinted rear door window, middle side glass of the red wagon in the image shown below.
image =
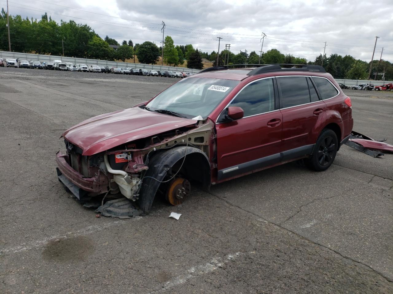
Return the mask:
<path id="1" fill-rule="evenodd" d="M 305 76 L 278 77 L 280 108 L 310 103 L 309 85 Z"/>

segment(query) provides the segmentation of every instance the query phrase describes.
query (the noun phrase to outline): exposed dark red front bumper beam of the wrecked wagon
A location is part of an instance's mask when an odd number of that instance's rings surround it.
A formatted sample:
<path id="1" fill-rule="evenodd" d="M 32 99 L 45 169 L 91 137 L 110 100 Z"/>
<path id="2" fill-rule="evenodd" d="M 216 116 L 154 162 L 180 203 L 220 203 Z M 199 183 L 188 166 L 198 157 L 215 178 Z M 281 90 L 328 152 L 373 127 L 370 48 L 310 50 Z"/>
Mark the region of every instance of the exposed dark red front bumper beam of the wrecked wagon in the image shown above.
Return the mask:
<path id="1" fill-rule="evenodd" d="M 56 163 L 61 175 L 65 176 L 75 186 L 83 189 L 87 192 L 92 193 L 105 193 L 108 191 L 108 178 L 99 173 L 97 176 L 92 178 L 86 178 L 79 172 L 75 171 L 66 161 L 66 155 L 63 155 L 60 151 L 56 154 Z"/>

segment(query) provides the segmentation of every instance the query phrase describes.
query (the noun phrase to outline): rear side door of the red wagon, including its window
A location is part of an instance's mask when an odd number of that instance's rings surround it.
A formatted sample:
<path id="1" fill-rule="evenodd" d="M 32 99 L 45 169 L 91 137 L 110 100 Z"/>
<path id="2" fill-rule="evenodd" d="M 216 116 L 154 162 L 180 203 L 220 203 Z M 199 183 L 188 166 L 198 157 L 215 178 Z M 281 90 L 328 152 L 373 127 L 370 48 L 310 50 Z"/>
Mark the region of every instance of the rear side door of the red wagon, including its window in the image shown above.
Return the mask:
<path id="1" fill-rule="evenodd" d="M 276 78 L 283 114 L 282 160 L 288 161 L 311 154 L 325 122 L 326 105 L 308 76 Z"/>

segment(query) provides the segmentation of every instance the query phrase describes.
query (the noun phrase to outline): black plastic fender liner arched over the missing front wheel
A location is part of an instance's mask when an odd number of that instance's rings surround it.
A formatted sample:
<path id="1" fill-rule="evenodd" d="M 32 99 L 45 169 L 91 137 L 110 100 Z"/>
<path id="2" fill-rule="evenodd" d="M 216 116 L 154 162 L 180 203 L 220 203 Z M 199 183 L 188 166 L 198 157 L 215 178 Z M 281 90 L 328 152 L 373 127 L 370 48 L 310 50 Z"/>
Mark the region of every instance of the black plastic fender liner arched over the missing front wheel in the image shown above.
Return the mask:
<path id="1" fill-rule="evenodd" d="M 187 153 L 186 153 L 187 151 Z M 148 214 L 151 206 L 153 204 L 154 198 L 156 196 L 156 192 L 158 187 L 160 187 L 161 182 L 165 178 L 167 171 L 173 167 L 173 165 L 184 158 L 186 154 L 186 160 L 184 164 L 187 163 L 187 156 L 190 154 L 198 154 L 200 153 L 206 159 L 206 172 L 203 174 L 204 179 L 203 185 L 206 188 L 209 188 L 210 185 L 210 164 L 208 156 L 202 152 L 200 149 L 190 146 L 179 146 L 169 149 L 168 151 L 164 152 L 157 152 L 148 164 L 149 169 L 147 170 L 145 177 L 150 176 L 156 178 L 159 181 L 156 181 L 152 178 L 144 178 L 142 180 L 142 187 L 140 192 L 140 197 L 138 200 L 138 205 L 140 209 L 143 211 L 144 214 Z M 201 157 L 200 157 L 201 158 Z"/>

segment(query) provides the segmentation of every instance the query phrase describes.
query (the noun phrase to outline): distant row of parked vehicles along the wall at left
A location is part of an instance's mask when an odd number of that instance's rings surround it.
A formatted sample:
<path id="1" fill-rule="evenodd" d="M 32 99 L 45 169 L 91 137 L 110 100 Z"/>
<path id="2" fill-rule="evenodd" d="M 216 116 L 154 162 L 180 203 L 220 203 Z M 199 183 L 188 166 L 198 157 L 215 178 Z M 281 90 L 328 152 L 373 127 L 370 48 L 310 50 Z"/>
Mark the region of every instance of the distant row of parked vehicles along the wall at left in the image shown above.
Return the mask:
<path id="1" fill-rule="evenodd" d="M 193 73 L 184 73 L 180 71 L 154 71 L 147 69 L 134 69 L 131 67 L 107 67 L 99 65 L 72 64 L 71 62 L 62 62 L 61 60 L 40 62 L 38 60 L 20 60 L 20 59 L 2 59 L 0 66 L 20 67 L 20 68 L 38 68 L 53 69 L 57 71 L 83 71 L 87 73 L 114 73 L 114 74 L 134 74 L 140 76 L 163 76 L 167 78 L 187 78 Z"/>

